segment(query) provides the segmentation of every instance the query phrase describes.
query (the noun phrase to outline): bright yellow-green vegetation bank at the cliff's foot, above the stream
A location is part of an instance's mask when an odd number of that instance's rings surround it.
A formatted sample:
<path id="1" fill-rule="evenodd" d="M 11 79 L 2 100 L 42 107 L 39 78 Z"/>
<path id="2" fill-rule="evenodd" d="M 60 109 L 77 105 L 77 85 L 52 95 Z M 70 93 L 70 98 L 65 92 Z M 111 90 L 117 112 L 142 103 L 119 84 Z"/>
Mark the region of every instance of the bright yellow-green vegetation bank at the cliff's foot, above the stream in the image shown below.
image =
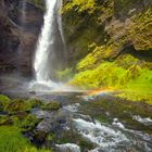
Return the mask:
<path id="1" fill-rule="evenodd" d="M 127 64 L 129 62 L 125 67 Z M 119 94 L 122 98 L 152 104 L 152 71 L 134 64 L 128 68 L 123 66 L 118 66 L 115 62 L 103 62 L 94 69 L 75 75 L 71 84 L 85 88 L 113 87 L 114 90 L 123 91 Z"/>

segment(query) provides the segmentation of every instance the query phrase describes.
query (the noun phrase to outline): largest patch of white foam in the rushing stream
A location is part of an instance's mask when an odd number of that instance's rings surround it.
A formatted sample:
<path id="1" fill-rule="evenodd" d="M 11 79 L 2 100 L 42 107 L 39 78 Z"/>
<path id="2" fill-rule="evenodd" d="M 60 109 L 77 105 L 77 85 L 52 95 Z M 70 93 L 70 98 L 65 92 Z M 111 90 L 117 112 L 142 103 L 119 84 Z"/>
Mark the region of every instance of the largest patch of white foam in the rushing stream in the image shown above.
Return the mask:
<path id="1" fill-rule="evenodd" d="M 97 121 L 96 123 L 86 122 L 80 118 L 73 121 L 77 131 L 99 147 L 115 147 L 121 142 L 129 141 L 129 139 L 119 130 L 114 130 L 109 126 L 101 125 Z"/>

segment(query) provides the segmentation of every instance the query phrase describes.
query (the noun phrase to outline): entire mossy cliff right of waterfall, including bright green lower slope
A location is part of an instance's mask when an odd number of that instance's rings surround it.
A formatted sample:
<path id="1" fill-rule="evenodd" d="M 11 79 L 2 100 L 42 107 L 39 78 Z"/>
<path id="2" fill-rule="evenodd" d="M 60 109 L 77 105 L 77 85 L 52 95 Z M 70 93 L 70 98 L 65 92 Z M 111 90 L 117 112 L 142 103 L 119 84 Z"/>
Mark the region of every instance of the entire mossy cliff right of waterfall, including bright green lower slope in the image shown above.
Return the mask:
<path id="1" fill-rule="evenodd" d="M 69 84 L 152 103 L 152 2 L 64 0 L 62 13 Z"/>

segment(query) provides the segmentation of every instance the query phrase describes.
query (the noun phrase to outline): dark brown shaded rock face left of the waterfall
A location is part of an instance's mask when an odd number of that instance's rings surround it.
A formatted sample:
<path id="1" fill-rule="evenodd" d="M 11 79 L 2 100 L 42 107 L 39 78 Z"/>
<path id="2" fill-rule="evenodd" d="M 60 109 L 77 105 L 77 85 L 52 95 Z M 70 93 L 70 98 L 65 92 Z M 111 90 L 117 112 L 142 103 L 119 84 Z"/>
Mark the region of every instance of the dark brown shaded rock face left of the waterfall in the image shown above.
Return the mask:
<path id="1" fill-rule="evenodd" d="M 43 11 L 21 0 L 0 1 L 0 72 L 31 74 Z"/>

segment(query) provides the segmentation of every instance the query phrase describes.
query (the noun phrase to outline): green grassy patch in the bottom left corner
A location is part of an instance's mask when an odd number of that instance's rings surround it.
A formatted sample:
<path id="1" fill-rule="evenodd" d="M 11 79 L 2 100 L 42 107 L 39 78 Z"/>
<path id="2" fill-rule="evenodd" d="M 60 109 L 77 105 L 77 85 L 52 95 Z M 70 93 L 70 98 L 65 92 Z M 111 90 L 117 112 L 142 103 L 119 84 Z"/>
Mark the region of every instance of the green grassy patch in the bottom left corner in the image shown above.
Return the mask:
<path id="1" fill-rule="evenodd" d="M 0 151 L 1 152 L 50 152 L 50 150 L 38 150 L 33 147 L 21 134 L 17 127 L 0 127 Z"/>

